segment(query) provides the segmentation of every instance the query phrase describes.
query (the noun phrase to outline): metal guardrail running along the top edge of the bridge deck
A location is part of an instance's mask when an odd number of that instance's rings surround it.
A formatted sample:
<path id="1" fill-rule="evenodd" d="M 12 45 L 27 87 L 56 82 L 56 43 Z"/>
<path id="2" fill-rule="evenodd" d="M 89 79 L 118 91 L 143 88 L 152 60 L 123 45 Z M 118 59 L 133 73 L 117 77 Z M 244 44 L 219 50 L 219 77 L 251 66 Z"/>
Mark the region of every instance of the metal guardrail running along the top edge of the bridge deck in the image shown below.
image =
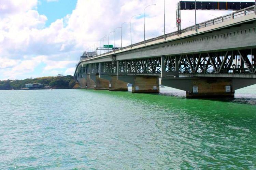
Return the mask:
<path id="1" fill-rule="evenodd" d="M 201 22 L 201 23 L 197 24 L 197 29 L 209 27 L 209 26 L 212 26 L 214 24 L 222 23 L 222 22 L 225 22 L 225 21 L 228 21 L 228 20 L 231 20 L 231 19 L 234 19 L 234 18 L 239 18 L 239 17 L 245 16 L 245 15 L 248 15 L 248 14 L 253 14 L 255 12 L 256 12 L 255 11 L 255 5 L 253 5 L 253 6 L 244 8 L 242 10 L 233 12 L 231 14 L 227 14 L 227 15 L 224 15 L 224 16 L 221 16 L 221 17 L 217 17 L 217 18 L 205 21 L 205 22 Z M 166 38 L 167 37 L 172 37 L 172 36 L 175 36 L 175 35 L 179 35 L 179 34 L 182 34 L 182 33 L 186 33 L 186 32 L 189 32 L 189 31 L 193 31 L 193 30 L 195 30 L 195 25 L 187 27 L 187 28 L 182 29 L 180 31 L 175 31 L 175 32 L 168 33 L 168 34 L 166 34 Z M 164 38 L 165 38 L 164 35 L 160 35 L 160 36 L 155 37 L 155 38 L 147 39 L 145 41 L 145 43 L 150 43 L 150 42 L 160 40 L 160 39 L 164 39 Z M 132 44 L 130 46 L 123 47 L 123 48 L 119 48 L 117 50 L 114 50 L 114 52 L 122 51 L 123 49 L 139 46 L 139 45 L 142 45 L 142 44 L 144 44 L 144 41 L 141 41 L 139 43 L 135 43 L 135 44 Z M 113 52 L 113 51 L 111 51 L 111 52 Z M 101 55 L 108 54 L 108 53 L 103 53 Z M 100 55 L 97 55 L 96 57 L 99 57 L 99 56 Z M 96 58 L 96 57 L 90 57 L 90 58 Z M 86 58 L 86 59 L 83 59 L 83 60 L 80 60 L 80 61 L 88 60 L 90 58 Z"/>

